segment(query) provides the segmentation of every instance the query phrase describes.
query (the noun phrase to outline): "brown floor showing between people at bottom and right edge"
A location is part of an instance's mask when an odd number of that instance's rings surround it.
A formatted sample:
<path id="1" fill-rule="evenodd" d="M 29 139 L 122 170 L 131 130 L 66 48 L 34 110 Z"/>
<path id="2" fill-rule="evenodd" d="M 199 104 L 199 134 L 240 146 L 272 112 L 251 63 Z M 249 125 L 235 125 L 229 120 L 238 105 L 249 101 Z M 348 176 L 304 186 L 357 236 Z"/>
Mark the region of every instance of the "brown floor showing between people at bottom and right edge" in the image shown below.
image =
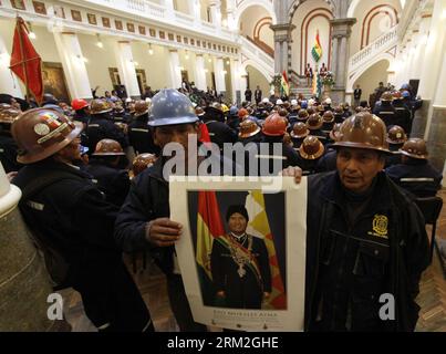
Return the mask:
<path id="1" fill-rule="evenodd" d="M 446 189 L 443 189 L 439 196 L 446 204 Z M 429 229 L 428 232 L 431 232 Z M 431 233 L 428 235 L 431 236 Z M 443 208 L 437 223 L 437 238 L 446 240 L 446 207 Z M 131 263 L 129 260 L 126 261 Z M 148 264 L 146 270 L 143 270 L 142 263 L 138 263 L 138 268 L 139 270 L 134 274 L 135 281 L 151 309 L 155 329 L 162 332 L 178 331 L 167 300 L 164 275 L 155 266 Z M 437 254 L 434 256 L 433 263 L 424 272 L 419 289 L 417 302 L 422 310 L 416 330 L 418 332 L 446 332 L 446 280 Z M 65 303 L 69 304 L 65 306 L 65 310 L 68 309 L 66 319 L 72 324 L 73 331 L 95 331 L 83 312 L 79 294 L 72 290 L 64 290 L 62 295 Z"/>

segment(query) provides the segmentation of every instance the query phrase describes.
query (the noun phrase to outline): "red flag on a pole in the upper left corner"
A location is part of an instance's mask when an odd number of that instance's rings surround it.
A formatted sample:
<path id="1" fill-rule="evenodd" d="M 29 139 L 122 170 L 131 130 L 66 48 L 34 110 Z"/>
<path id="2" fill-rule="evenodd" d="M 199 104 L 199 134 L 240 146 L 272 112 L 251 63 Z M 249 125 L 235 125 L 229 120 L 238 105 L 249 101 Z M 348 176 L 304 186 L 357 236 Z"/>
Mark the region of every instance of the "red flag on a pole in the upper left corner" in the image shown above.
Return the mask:
<path id="1" fill-rule="evenodd" d="M 12 43 L 10 69 L 24 83 L 27 94 L 31 92 L 38 103 L 41 103 L 43 97 L 41 64 L 42 59 L 28 37 L 28 28 L 23 19 L 18 17 Z"/>

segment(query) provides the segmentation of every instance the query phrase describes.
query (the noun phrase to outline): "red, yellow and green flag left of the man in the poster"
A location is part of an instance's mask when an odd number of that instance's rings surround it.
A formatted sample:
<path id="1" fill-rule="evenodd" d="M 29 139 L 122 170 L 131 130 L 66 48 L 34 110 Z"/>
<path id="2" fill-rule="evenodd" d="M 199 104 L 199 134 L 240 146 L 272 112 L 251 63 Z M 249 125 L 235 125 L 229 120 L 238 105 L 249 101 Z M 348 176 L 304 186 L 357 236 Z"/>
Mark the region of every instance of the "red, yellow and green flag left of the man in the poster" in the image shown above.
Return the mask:
<path id="1" fill-rule="evenodd" d="M 214 284 L 210 271 L 212 243 L 215 238 L 224 235 L 225 227 L 215 191 L 199 191 L 196 261 L 198 264 L 201 294 L 207 305 L 211 305 L 214 301 Z"/>

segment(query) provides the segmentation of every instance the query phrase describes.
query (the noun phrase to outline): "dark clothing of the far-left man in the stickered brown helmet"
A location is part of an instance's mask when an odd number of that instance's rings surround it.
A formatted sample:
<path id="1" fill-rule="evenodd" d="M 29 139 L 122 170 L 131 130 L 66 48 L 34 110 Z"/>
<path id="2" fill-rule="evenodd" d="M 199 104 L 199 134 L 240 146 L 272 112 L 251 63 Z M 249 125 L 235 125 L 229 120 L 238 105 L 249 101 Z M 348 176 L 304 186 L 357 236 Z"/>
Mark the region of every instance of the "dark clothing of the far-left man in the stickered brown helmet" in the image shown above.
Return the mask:
<path id="1" fill-rule="evenodd" d="M 104 200 L 90 176 L 46 159 L 23 167 L 13 184 L 27 189 L 53 174 L 63 177 L 20 201 L 27 225 L 66 260 L 69 283 L 96 326 L 111 322 L 115 330 L 141 331 L 149 316 L 113 238 L 117 208 Z"/>

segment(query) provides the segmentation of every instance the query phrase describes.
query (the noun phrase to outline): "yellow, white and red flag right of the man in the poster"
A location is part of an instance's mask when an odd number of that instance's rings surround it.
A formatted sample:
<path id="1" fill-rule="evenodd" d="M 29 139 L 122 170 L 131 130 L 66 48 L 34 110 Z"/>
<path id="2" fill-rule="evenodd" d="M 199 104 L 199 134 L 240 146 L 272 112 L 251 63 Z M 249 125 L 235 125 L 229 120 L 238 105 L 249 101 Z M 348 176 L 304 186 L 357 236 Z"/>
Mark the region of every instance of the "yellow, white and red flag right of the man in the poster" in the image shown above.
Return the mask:
<path id="1" fill-rule="evenodd" d="M 267 306 L 270 310 L 284 310 L 287 309 L 287 295 L 283 280 L 280 274 L 276 246 L 269 227 L 262 192 L 260 190 L 250 191 L 246 198 L 245 207 L 249 215 L 247 233 L 263 239 L 268 250 L 271 270 L 271 295 L 268 300 Z"/>

